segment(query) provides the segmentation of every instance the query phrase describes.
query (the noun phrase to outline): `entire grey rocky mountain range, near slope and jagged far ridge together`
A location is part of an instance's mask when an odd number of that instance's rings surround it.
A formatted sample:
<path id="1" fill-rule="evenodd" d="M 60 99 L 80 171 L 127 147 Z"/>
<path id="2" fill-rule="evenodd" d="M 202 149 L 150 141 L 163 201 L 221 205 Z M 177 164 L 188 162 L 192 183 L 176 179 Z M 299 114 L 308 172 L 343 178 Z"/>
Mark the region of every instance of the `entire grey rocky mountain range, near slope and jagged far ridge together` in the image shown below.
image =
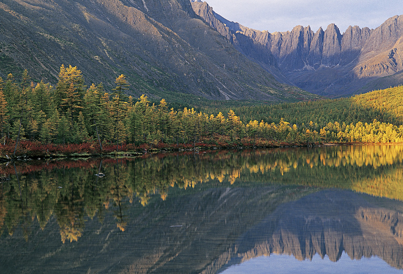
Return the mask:
<path id="1" fill-rule="evenodd" d="M 402 16 L 269 33 L 200 1 L 0 0 L 0 76 L 55 84 L 64 64 L 107 89 L 124 74 L 155 100 L 316 100 L 400 84 L 402 37 Z"/>

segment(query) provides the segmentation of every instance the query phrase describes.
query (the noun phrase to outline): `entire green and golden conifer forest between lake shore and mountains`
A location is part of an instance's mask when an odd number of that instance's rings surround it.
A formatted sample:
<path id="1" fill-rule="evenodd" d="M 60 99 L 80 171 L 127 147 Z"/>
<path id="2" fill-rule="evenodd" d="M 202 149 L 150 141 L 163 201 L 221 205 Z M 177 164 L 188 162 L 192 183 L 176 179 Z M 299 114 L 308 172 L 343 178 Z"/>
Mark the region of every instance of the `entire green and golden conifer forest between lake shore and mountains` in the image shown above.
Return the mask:
<path id="1" fill-rule="evenodd" d="M 0 78 L 1 154 L 12 153 L 11 148 L 14 154 L 25 153 L 17 148 L 33 149 L 32 144 L 89 144 L 89 150 L 117 151 L 203 144 L 270 147 L 403 142 L 401 86 L 345 99 L 257 102 L 221 111 L 213 107 L 195 110 L 196 106 L 174 109 L 165 99 L 152 103 L 145 95 L 133 99 L 125 94 L 129 86 L 125 75 L 119 75 L 110 92 L 102 83 L 88 87 L 81 71 L 71 65 L 60 67 L 55 86 L 34 83 L 27 70 L 21 81 L 12 74 Z"/>

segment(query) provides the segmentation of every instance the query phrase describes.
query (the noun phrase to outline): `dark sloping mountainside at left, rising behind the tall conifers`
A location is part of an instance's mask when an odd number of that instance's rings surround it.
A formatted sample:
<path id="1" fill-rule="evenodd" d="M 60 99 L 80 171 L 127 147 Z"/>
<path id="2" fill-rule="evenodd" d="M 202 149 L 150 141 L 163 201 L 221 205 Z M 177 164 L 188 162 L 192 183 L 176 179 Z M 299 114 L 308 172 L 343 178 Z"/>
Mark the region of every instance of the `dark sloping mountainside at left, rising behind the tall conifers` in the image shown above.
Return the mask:
<path id="1" fill-rule="evenodd" d="M 184 100 L 304 100 L 206 25 L 189 0 L 1 0 L 0 76 L 23 69 L 56 82 L 61 64 L 86 82 L 130 93 Z"/>

